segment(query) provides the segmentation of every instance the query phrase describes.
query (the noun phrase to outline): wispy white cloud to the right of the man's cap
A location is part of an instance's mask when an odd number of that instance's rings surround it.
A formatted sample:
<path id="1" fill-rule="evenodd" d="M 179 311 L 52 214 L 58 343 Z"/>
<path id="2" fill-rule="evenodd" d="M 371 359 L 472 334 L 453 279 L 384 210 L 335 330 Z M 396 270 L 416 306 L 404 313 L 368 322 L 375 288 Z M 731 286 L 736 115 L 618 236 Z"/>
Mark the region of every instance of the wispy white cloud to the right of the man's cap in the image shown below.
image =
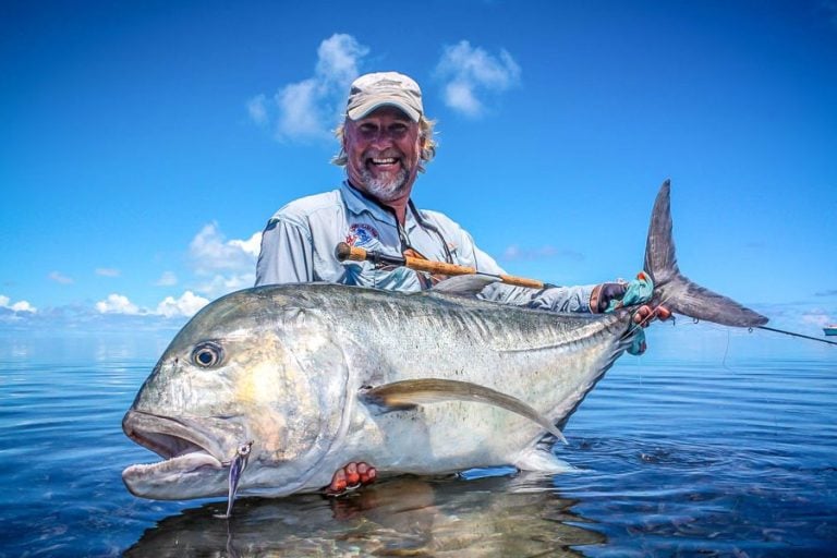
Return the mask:
<path id="1" fill-rule="evenodd" d="M 445 104 L 475 118 L 485 110 L 481 97 L 502 93 L 520 83 L 520 66 L 506 50 L 495 57 L 461 40 L 445 47 L 436 75 L 445 82 Z"/>

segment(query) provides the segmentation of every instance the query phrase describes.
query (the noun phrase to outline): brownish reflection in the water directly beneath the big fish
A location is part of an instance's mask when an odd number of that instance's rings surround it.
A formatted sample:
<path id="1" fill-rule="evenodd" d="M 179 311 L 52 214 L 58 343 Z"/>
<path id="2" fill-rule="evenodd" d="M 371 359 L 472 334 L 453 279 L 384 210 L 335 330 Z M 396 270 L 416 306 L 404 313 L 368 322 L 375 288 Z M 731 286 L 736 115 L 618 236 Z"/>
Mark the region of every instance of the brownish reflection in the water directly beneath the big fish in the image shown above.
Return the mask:
<path id="1" fill-rule="evenodd" d="M 400 477 L 338 499 L 243 499 L 213 518 L 225 505 L 160 521 L 125 556 L 581 556 L 605 543 L 548 478 Z"/>

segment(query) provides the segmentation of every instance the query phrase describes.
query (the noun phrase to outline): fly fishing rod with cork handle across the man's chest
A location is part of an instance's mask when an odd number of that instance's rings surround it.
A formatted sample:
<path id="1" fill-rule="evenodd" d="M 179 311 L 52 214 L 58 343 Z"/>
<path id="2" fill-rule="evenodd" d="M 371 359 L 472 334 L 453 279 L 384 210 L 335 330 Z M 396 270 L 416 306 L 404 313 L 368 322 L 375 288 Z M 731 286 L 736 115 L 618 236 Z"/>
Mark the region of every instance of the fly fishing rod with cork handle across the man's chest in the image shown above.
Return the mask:
<path id="1" fill-rule="evenodd" d="M 335 247 L 335 256 L 340 262 L 372 262 L 376 267 L 380 266 L 398 266 L 407 267 L 415 271 L 425 271 L 428 274 L 439 274 L 448 276 L 457 275 L 480 275 L 483 277 L 490 277 L 497 279 L 506 284 L 513 284 L 515 287 L 529 287 L 531 289 L 551 289 L 557 287 L 553 283 L 538 281 L 537 279 L 529 279 L 525 277 L 515 277 L 512 275 L 495 275 L 484 274 L 477 271 L 476 268 L 470 266 L 459 266 L 456 264 L 448 264 L 446 262 L 432 262 L 429 259 L 422 259 L 413 256 L 390 256 L 375 252 L 372 250 L 359 248 L 356 246 L 350 246 L 345 242 L 340 242 Z M 837 345 L 837 342 L 829 341 L 827 339 L 820 339 L 818 337 L 805 336 L 802 333 L 796 333 L 793 331 L 787 331 L 785 329 L 776 329 L 767 326 L 755 326 L 757 329 L 764 329 L 765 331 L 773 331 L 774 333 L 783 333 L 791 337 L 799 337 L 801 339 L 810 339 L 811 341 L 820 341 L 821 343 Z M 752 328 L 751 328 L 752 329 Z"/>

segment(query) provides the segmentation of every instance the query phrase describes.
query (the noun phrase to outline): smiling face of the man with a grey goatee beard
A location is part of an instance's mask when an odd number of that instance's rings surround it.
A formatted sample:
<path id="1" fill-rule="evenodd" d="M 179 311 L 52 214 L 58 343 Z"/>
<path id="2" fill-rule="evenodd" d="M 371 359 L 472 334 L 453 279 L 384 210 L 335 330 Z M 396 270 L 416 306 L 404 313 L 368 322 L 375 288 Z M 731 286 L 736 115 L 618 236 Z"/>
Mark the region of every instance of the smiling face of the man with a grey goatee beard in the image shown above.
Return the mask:
<path id="1" fill-rule="evenodd" d="M 347 120 L 343 150 L 355 187 L 381 202 L 409 197 L 422 153 L 418 124 L 393 107 Z"/>

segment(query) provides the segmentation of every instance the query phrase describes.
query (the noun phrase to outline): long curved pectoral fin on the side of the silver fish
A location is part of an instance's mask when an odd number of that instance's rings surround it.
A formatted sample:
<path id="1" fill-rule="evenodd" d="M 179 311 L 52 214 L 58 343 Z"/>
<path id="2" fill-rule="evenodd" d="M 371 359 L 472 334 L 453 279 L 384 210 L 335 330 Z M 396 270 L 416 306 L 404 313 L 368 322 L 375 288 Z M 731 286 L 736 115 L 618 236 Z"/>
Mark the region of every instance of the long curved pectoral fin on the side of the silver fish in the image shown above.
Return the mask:
<path id="1" fill-rule="evenodd" d="M 378 407 L 385 413 L 441 401 L 488 403 L 537 423 L 567 444 L 567 438 L 561 430 L 529 404 L 515 397 L 470 381 L 440 378 L 408 379 L 365 390 L 360 398 L 365 404 Z"/>

